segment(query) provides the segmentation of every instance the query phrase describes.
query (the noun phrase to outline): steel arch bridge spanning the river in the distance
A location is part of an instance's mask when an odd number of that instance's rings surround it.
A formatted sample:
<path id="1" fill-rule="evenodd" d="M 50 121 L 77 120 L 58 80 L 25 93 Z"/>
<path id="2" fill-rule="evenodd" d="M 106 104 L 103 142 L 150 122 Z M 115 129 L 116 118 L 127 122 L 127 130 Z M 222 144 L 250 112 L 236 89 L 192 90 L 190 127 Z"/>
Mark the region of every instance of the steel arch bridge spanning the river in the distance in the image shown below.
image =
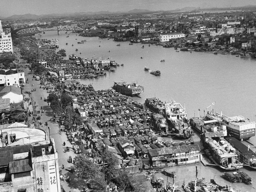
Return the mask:
<path id="1" fill-rule="evenodd" d="M 81 27 L 78 26 L 60 26 L 54 28 L 29 28 L 29 29 L 22 29 L 19 30 L 16 34 L 30 34 L 30 33 L 42 33 L 43 31 L 83 31 Z"/>

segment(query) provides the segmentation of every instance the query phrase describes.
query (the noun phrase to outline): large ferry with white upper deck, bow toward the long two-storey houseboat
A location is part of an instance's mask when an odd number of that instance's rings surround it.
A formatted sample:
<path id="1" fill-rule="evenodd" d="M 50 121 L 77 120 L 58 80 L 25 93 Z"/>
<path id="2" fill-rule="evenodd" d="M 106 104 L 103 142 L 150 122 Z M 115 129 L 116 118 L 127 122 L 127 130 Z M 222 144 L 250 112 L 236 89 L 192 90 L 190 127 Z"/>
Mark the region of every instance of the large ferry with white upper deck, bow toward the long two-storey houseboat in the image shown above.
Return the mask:
<path id="1" fill-rule="evenodd" d="M 188 139 L 193 135 L 187 119 L 187 111 L 180 103 L 174 100 L 171 103 L 165 103 L 165 117 L 171 132 L 178 138 Z"/>

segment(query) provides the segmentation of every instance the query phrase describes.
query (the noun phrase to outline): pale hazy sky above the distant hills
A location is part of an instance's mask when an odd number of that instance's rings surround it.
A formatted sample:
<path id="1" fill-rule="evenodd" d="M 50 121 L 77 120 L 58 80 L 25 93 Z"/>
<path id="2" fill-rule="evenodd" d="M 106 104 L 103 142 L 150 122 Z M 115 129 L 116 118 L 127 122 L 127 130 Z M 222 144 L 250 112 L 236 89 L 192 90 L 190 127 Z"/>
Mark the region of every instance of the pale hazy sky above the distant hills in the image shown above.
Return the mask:
<path id="1" fill-rule="evenodd" d="M 0 0 L 0 16 L 71 12 L 174 10 L 183 7 L 237 7 L 256 5 L 256 0 Z"/>

